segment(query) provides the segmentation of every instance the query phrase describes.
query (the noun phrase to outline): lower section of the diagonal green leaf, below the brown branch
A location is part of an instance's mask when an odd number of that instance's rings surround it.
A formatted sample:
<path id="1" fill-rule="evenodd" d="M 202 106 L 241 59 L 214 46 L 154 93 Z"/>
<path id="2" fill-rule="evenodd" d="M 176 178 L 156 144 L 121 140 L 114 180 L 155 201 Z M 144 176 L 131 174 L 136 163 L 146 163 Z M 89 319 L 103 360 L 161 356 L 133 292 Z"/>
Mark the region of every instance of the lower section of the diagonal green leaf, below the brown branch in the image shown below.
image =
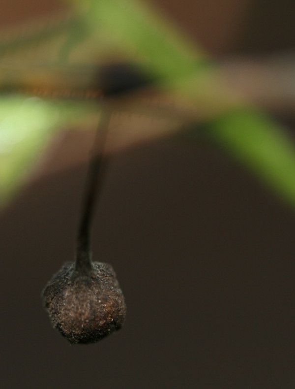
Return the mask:
<path id="1" fill-rule="evenodd" d="M 213 138 L 295 206 L 295 149 L 283 128 L 255 109 L 237 109 L 208 124 Z"/>

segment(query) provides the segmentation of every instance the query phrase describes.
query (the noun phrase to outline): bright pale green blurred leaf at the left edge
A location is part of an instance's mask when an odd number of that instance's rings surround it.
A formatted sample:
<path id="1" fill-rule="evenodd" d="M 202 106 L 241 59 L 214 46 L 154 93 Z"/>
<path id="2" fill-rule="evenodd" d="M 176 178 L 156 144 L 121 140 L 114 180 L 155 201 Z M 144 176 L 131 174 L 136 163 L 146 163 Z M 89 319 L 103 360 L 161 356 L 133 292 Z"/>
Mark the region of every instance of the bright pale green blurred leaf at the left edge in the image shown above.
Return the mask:
<path id="1" fill-rule="evenodd" d="M 0 99 L 0 205 L 15 194 L 56 131 L 83 120 L 89 109 L 37 97 Z"/>

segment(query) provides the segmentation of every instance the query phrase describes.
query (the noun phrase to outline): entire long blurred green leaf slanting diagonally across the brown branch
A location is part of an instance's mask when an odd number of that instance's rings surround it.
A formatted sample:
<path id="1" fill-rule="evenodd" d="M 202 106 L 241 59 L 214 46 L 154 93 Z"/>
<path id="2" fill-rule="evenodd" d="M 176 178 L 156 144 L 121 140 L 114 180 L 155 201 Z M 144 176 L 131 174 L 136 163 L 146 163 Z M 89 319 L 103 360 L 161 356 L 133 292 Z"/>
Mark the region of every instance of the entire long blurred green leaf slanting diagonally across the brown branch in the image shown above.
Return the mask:
<path id="1" fill-rule="evenodd" d="M 281 126 L 231 94 L 202 51 L 177 34 L 146 3 L 88 3 L 89 26 L 95 29 L 97 24 L 103 25 L 126 48 L 133 46 L 161 81 L 177 87 L 179 94 L 199 110 L 202 107 L 211 132 L 228 151 L 295 205 L 295 145 Z"/>

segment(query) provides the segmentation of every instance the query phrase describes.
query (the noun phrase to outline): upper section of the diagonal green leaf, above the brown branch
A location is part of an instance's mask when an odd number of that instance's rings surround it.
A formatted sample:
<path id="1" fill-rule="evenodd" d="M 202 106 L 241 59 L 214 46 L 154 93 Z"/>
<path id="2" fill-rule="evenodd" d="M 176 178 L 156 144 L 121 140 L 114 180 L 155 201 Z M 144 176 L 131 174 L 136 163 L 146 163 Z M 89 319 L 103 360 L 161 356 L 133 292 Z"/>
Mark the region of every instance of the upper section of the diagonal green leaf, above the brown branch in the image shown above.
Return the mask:
<path id="1" fill-rule="evenodd" d="M 87 9 L 84 18 L 92 33 L 103 30 L 117 37 L 126 54 L 144 60 L 149 71 L 162 81 L 175 82 L 196 74 L 205 54 L 192 47 L 163 16 L 158 16 L 146 2 L 133 0 L 76 0 L 77 8 Z"/>

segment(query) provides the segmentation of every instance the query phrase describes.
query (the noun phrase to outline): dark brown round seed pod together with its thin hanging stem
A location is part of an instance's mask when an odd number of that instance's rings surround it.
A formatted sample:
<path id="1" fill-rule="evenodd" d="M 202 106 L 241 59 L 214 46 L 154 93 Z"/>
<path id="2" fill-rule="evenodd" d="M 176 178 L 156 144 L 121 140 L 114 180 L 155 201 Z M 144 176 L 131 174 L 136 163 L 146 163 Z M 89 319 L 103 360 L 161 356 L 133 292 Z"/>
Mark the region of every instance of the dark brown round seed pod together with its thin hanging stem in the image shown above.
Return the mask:
<path id="1" fill-rule="evenodd" d="M 102 179 L 103 147 L 110 121 L 102 115 L 90 158 L 76 261 L 63 265 L 43 291 L 45 307 L 53 325 L 72 343 L 94 343 L 121 328 L 126 305 L 116 274 L 107 263 L 92 262 L 90 225 L 94 200 Z"/>

